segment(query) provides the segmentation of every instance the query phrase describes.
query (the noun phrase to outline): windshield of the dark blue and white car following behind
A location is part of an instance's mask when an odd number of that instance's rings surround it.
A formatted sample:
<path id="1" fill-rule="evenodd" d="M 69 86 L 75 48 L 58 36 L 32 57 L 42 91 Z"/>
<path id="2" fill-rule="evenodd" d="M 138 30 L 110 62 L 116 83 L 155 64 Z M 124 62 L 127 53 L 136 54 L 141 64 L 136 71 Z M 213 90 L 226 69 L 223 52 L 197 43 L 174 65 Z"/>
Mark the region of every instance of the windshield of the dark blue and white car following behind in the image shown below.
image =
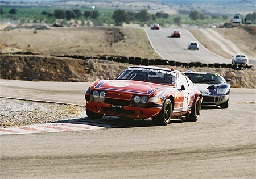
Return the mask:
<path id="1" fill-rule="evenodd" d="M 195 84 L 221 84 L 225 83 L 224 80 L 217 74 L 196 74 L 185 73 L 187 77 Z"/>

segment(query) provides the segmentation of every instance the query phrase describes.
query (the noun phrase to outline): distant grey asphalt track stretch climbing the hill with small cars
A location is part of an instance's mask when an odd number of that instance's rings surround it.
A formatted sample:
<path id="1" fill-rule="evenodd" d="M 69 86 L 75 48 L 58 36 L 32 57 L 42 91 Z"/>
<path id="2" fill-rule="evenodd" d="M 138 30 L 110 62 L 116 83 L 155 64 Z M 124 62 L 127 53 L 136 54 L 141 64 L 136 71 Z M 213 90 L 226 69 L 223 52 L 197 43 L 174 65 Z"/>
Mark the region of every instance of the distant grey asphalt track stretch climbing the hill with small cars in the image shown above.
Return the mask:
<path id="1" fill-rule="evenodd" d="M 180 62 L 196 62 L 201 63 L 231 63 L 230 59 L 225 59 L 210 52 L 200 42 L 199 50 L 188 50 L 188 44 L 190 41 L 198 41 L 190 32 L 184 28 L 167 28 L 162 27 L 160 30 L 151 30 L 150 28 L 144 28 L 151 46 L 155 51 L 163 58 L 168 60 L 180 61 Z M 181 32 L 181 38 L 172 38 L 171 32 L 173 30 L 179 30 Z"/>

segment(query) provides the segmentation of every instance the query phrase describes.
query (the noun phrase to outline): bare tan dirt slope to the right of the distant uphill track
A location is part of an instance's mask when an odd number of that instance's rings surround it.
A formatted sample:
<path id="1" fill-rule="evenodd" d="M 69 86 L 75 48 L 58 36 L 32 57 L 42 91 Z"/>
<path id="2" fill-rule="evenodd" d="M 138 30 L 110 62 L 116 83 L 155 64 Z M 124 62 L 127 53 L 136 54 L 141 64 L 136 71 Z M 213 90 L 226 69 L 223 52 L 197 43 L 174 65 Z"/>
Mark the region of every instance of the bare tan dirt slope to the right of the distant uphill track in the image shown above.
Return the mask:
<path id="1" fill-rule="evenodd" d="M 226 59 L 236 53 L 245 53 L 249 59 L 256 60 L 255 34 L 243 28 L 196 28 L 188 29 L 209 51 Z"/>

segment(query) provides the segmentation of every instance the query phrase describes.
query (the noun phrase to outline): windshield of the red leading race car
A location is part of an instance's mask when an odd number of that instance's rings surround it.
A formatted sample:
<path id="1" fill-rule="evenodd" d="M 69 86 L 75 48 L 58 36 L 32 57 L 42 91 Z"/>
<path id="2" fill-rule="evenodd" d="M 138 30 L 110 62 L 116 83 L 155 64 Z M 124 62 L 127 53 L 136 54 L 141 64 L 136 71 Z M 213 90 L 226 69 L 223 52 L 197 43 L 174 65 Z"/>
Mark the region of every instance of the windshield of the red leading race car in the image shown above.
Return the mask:
<path id="1" fill-rule="evenodd" d="M 128 68 L 116 79 L 148 81 L 159 84 L 176 85 L 176 73 L 161 69 Z"/>

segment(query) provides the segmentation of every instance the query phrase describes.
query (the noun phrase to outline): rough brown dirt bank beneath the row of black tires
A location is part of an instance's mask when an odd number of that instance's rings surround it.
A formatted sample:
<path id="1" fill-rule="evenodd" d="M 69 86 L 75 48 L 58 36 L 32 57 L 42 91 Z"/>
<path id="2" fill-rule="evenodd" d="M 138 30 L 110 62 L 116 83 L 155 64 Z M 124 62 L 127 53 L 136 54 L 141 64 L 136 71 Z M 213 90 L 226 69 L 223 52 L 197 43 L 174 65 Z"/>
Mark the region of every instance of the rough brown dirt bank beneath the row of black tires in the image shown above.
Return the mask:
<path id="1" fill-rule="evenodd" d="M 97 79 L 113 79 L 129 63 L 118 63 L 98 59 L 71 59 L 39 55 L 1 55 L 1 78 L 27 81 L 73 81 L 92 82 Z M 170 65 L 154 65 L 171 68 Z M 225 78 L 231 78 L 235 88 L 256 88 L 255 66 L 250 69 L 233 70 L 229 68 L 175 67 L 185 72 L 217 72 Z"/>

